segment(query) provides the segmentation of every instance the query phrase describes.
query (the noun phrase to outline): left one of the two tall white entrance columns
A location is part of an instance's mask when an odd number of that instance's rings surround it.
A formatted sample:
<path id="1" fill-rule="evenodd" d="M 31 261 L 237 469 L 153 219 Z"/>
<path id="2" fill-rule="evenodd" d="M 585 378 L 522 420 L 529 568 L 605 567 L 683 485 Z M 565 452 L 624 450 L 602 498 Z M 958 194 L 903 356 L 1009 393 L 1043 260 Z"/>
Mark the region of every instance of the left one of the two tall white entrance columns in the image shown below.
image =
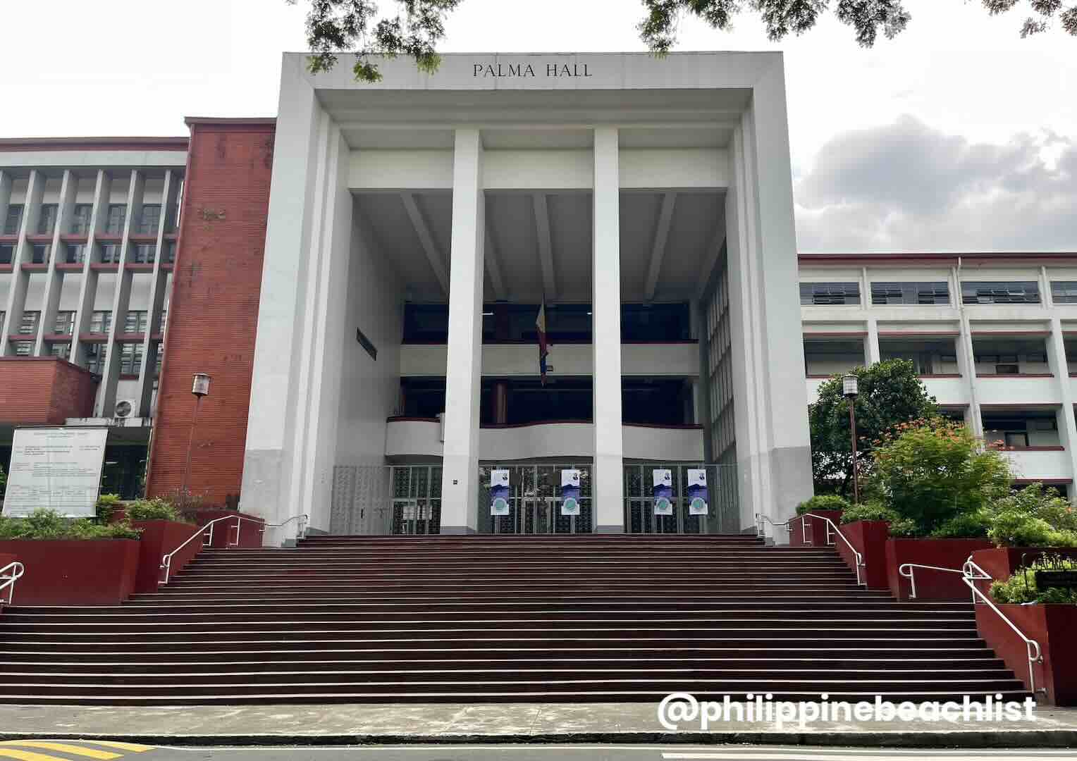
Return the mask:
<path id="1" fill-rule="evenodd" d="M 478 529 L 478 413 L 482 374 L 482 267 L 486 202 L 478 129 L 456 132 L 449 344 L 445 387 L 442 533 Z"/>

